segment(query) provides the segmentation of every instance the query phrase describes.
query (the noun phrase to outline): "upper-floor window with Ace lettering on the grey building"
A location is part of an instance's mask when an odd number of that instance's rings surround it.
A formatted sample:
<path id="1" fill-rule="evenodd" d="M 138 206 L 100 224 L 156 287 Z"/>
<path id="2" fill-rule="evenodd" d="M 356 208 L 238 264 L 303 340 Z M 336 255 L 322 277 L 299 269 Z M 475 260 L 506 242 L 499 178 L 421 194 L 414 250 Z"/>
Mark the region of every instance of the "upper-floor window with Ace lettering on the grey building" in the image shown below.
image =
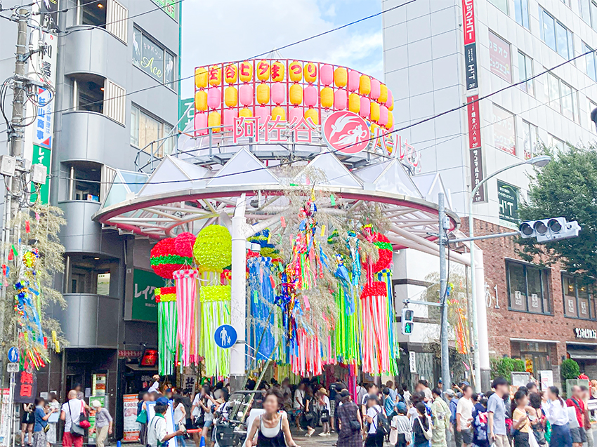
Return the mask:
<path id="1" fill-rule="evenodd" d="M 174 90 L 175 56 L 138 28 L 133 28 L 133 65 Z"/>

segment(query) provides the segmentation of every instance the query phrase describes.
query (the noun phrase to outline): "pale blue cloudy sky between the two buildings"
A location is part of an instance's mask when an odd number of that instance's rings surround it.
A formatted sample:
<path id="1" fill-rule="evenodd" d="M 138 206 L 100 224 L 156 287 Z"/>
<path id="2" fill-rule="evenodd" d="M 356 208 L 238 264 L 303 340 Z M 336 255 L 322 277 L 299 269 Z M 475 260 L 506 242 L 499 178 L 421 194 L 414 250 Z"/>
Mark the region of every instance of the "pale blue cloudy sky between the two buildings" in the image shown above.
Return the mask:
<path id="1" fill-rule="evenodd" d="M 185 0 L 182 76 L 253 58 L 381 11 L 381 0 Z M 383 80 L 381 15 L 280 51 L 284 59 L 346 65 Z M 182 98 L 193 95 L 183 81 Z"/>

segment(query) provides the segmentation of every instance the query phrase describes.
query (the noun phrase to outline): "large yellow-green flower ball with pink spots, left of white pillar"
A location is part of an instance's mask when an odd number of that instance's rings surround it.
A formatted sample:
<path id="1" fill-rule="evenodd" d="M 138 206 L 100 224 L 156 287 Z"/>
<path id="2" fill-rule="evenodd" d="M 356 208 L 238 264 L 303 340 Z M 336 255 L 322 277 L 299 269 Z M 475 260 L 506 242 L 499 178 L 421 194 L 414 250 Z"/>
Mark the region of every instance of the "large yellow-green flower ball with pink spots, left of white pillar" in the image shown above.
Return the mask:
<path id="1" fill-rule="evenodd" d="M 202 270 L 219 272 L 232 262 L 232 237 L 222 225 L 208 225 L 197 234 L 192 248 Z"/>

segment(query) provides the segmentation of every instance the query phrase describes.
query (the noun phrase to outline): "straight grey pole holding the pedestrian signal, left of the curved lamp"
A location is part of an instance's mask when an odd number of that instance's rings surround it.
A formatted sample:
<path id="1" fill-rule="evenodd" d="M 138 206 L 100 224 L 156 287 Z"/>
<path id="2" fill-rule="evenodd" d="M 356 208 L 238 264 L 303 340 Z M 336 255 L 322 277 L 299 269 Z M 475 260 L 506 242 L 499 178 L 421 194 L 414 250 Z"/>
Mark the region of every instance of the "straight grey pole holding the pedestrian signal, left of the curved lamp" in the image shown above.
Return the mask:
<path id="1" fill-rule="evenodd" d="M 450 378 L 450 349 L 448 348 L 448 319 L 447 319 L 447 269 L 446 269 L 446 214 L 444 208 L 444 194 L 438 194 L 439 211 L 439 235 L 440 235 L 440 304 L 442 305 L 441 345 L 442 345 L 442 388 L 449 389 L 452 379 Z M 444 399 L 445 399 L 444 395 Z"/>

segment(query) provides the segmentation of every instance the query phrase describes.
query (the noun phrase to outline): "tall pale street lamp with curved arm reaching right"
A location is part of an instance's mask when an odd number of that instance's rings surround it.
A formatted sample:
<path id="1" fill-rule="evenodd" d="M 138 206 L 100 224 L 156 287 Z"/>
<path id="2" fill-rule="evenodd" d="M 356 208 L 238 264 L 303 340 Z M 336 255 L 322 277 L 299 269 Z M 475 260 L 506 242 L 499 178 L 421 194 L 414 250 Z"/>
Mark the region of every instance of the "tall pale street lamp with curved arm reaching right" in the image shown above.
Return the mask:
<path id="1" fill-rule="evenodd" d="M 542 168 L 546 166 L 551 161 L 551 156 L 549 155 L 542 155 L 542 156 L 535 156 L 532 159 L 526 161 L 519 161 L 518 163 L 511 164 L 510 166 L 506 166 L 505 168 L 498 169 L 492 175 L 481 180 L 478 185 L 476 185 L 473 190 L 471 191 L 471 199 L 468 201 L 468 236 L 474 237 L 475 230 L 473 225 L 473 200 L 475 199 L 475 194 L 480 187 L 482 187 L 487 180 L 490 178 L 494 178 L 496 175 L 503 173 L 504 171 L 508 171 L 511 168 L 516 168 L 518 166 L 523 166 L 525 164 L 529 164 L 532 166 L 537 166 L 538 168 Z M 477 392 L 481 391 L 481 368 L 480 368 L 480 354 L 479 354 L 479 325 L 477 321 L 477 293 L 475 288 L 475 241 L 471 241 L 470 245 L 471 251 L 471 314 L 473 318 L 473 363 L 475 364 L 474 373 L 475 373 L 475 389 Z"/>

